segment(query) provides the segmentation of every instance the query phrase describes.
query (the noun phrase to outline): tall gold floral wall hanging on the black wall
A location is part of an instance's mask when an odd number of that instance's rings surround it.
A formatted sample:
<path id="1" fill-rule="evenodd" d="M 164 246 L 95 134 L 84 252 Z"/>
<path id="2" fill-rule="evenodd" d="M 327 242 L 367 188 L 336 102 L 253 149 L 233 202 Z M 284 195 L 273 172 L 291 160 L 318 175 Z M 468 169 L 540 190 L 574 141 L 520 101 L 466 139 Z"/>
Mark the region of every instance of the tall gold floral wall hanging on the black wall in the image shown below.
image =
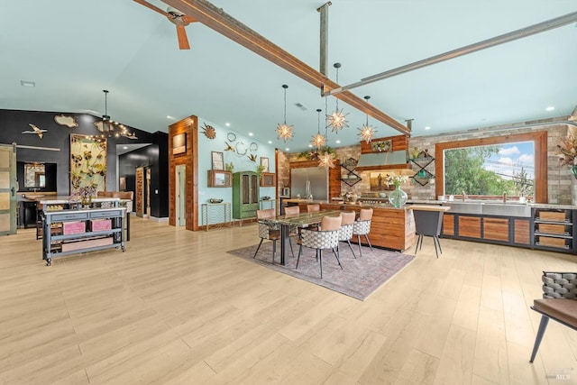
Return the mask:
<path id="1" fill-rule="evenodd" d="M 105 191 L 106 140 L 70 134 L 70 195 L 86 188 Z"/>

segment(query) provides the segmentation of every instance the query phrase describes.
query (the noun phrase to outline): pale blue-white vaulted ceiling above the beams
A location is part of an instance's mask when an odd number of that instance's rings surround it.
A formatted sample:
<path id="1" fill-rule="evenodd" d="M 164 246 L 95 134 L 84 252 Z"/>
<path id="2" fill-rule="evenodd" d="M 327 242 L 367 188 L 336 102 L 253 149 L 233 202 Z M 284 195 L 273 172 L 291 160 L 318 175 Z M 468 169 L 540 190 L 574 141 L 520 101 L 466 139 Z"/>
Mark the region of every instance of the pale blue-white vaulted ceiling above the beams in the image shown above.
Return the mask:
<path id="1" fill-rule="evenodd" d="M 158 0 L 150 1 L 166 9 Z M 318 68 L 317 0 L 214 0 L 224 12 Z M 329 77 L 341 62 L 342 86 L 416 60 L 577 11 L 577 0 L 333 0 L 329 7 Z M 104 113 L 150 131 L 198 115 L 261 142 L 303 151 L 317 130 L 316 87 L 234 41 L 193 23 L 191 50 L 161 14 L 131 0 L 0 0 L 0 108 Z M 577 105 L 575 23 L 353 89 L 404 123 L 413 135 L 460 131 L 571 115 Z M 36 82 L 22 87 L 21 80 Z M 295 138 L 276 139 L 283 120 Z M 307 110 L 299 109 L 301 103 Z M 329 97 L 328 109 L 335 99 Z M 553 105 L 554 111 L 545 107 Z M 359 142 L 365 115 L 339 102 L 349 128 L 333 146 Z M 377 136 L 397 131 L 369 118 Z M 201 120 L 202 124 L 202 120 Z M 430 126 L 430 130 L 425 130 Z M 324 121 L 321 123 L 324 132 Z M 335 144 L 336 139 L 341 140 Z M 223 138 L 224 140 L 224 138 Z"/>

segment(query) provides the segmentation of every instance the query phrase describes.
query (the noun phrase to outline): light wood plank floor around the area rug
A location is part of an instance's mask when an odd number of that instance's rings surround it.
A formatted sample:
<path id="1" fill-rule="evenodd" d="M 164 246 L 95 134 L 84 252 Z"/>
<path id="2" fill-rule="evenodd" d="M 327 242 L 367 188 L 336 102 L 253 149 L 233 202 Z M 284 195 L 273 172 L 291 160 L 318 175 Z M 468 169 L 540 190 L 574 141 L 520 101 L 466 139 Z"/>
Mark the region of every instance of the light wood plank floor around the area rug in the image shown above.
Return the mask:
<path id="1" fill-rule="evenodd" d="M 576 256 L 442 240 L 435 260 L 426 238 L 362 302 L 227 254 L 255 225 L 132 225 L 126 252 L 51 267 L 33 230 L 0 237 L 0 383 L 577 383 L 577 332 L 555 322 L 528 362 L 541 271 Z"/>

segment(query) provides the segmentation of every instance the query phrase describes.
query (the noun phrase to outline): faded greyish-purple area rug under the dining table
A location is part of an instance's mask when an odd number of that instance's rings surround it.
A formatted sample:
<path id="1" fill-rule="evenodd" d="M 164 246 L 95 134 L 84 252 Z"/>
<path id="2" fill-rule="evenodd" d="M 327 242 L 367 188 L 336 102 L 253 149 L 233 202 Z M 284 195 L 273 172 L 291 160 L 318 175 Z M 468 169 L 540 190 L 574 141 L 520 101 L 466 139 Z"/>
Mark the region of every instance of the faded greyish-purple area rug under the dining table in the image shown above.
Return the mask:
<path id="1" fill-rule="evenodd" d="M 298 245 L 293 242 L 295 257 L 287 257 L 287 265 L 282 266 L 280 261 L 280 247 L 277 244 L 275 263 L 272 263 L 272 243 L 265 241 L 255 259 L 252 259 L 256 251 L 257 244 L 232 250 L 229 253 L 252 261 L 272 270 L 277 270 L 296 277 L 300 280 L 307 280 L 316 285 L 332 289 L 344 295 L 364 300 L 373 291 L 389 280 L 392 276 L 415 259 L 414 255 L 400 252 L 390 252 L 373 247 L 372 251 L 367 246 L 362 246 L 362 257 L 359 255 L 359 246 L 353 244 L 353 253 L 348 244 L 341 243 L 340 260 L 343 270 L 339 267 L 333 252 L 323 251 L 323 279 L 320 278 L 320 267 L 316 261 L 315 250 L 303 247 L 303 254 L 298 262 L 298 270 L 295 269 L 298 257 Z"/>

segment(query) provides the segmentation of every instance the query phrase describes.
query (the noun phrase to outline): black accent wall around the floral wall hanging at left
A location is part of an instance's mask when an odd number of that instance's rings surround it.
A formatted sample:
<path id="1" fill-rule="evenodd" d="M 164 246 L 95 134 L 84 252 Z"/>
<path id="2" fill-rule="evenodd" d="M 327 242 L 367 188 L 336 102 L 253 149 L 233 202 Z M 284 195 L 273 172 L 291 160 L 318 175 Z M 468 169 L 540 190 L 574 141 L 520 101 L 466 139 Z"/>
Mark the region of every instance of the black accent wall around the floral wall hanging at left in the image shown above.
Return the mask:
<path id="1" fill-rule="evenodd" d="M 73 116 L 78 123 L 78 127 L 69 128 L 56 124 L 54 121 L 54 116 L 56 115 Z M 16 160 L 55 163 L 57 165 L 56 191 L 60 196 L 68 196 L 70 194 L 70 133 L 81 135 L 99 134 L 100 132 L 94 125 L 97 120 L 100 120 L 100 117 L 88 114 L 0 109 L 0 143 L 12 144 L 15 142 L 19 145 L 59 149 L 60 151 L 17 148 Z M 24 131 L 33 131 L 29 124 L 34 124 L 42 130 L 48 130 L 48 132 L 43 133 L 42 138 L 36 133 L 23 133 Z M 139 152 L 138 156 L 145 157 L 145 159 L 140 160 L 142 164 L 145 163 L 151 166 L 151 214 L 157 217 L 167 217 L 169 206 L 168 133 L 148 133 L 133 127 L 129 127 L 129 130 L 136 133 L 138 139 L 112 137 L 106 141 L 106 189 L 115 190 L 118 177 L 130 175 L 130 173 L 124 174 L 124 171 L 120 172 L 121 169 L 126 170 L 122 161 L 118 164 L 119 174 L 116 175 L 116 145 L 152 143 L 151 146 L 146 147 L 146 149 L 151 147 L 152 150 Z M 121 158 L 124 157 L 126 155 Z M 134 170 L 132 170 L 133 172 Z M 23 186 L 23 183 L 21 183 L 21 186 Z M 157 189 L 158 194 L 155 194 Z M 134 179 L 129 181 L 127 178 L 126 190 L 135 191 Z"/>

